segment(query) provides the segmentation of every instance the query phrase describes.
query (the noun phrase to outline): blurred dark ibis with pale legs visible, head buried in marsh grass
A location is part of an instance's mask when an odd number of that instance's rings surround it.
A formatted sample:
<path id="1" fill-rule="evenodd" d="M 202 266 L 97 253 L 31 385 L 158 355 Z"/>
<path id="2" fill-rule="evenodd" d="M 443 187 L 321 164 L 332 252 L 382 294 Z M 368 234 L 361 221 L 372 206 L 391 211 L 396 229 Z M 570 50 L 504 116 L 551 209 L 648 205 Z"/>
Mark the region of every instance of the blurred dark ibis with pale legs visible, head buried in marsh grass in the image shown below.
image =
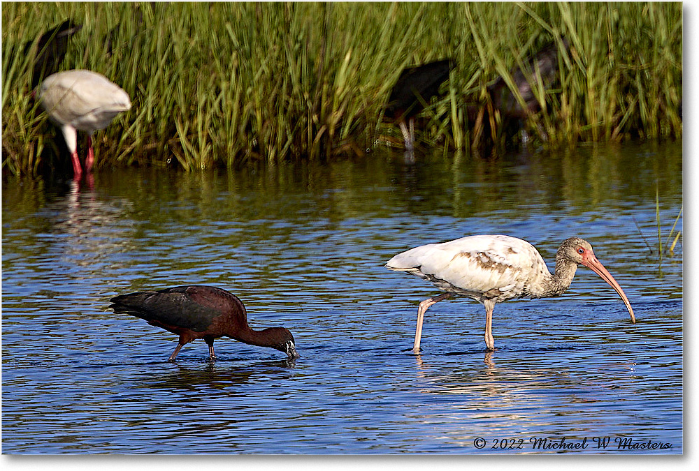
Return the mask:
<path id="1" fill-rule="evenodd" d="M 415 115 L 439 93 L 439 87 L 449 78 L 454 61 L 445 59 L 403 69 L 391 90 L 384 117 L 394 120 L 401 128 L 405 149 L 415 144 Z M 406 122 L 407 121 L 407 122 Z M 410 129 L 409 129 L 410 128 Z"/>

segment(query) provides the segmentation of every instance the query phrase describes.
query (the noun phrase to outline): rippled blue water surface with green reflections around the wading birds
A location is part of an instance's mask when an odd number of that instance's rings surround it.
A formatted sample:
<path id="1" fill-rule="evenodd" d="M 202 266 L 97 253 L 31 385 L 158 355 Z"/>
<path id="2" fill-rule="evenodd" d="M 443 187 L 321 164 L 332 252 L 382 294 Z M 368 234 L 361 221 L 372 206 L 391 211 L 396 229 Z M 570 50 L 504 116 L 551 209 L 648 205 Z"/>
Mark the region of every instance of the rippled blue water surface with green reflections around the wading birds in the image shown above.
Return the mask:
<path id="1" fill-rule="evenodd" d="M 656 189 L 666 244 L 682 144 L 416 160 L 3 181 L 3 453 L 681 453 L 682 240 L 659 257 Z M 498 304 L 492 353 L 480 304 L 436 304 L 415 356 L 438 291 L 383 264 L 489 233 L 550 269 L 589 240 L 637 324 L 582 267 L 562 297 Z M 173 334 L 107 308 L 182 284 L 237 294 L 302 357 L 221 338 L 214 366 L 203 341 L 168 363 Z"/>

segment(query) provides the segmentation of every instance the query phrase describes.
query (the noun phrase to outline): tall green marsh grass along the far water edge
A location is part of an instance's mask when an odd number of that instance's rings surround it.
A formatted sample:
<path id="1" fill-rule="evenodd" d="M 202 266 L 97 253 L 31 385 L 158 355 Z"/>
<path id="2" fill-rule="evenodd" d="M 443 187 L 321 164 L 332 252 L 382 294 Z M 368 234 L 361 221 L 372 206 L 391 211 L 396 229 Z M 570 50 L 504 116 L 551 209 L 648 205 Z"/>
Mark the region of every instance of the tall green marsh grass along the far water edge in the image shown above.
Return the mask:
<path id="1" fill-rule="evenodd" d="M 421 115 L 419 144 L 470 149 L 487 85 L 554 38 L 556 87 L 526 129 L 547 147 L 682 136 L 681 3 L 3 3 L 3 172 L 60 165 L 59 133 L 29 98 L 18 53 L 71 17 L 84 24 L 62 68 L 106 75 L 131 111 L 96 137 L 96 165 L 187 170 L 362 155 L 401 142 L 382 121 L 405 66 L 457 68 Z M 535 79 L 532 78 L 535 82 Z M 518 99 L 521 100 L 521 97 Z M 491 129 L 498 129 L 491 114 Z M 57 137 L 58 136 L 58 137 Z M 57 137 L 55 139 L 55 137 Z M 493 142 L 502 144 L 501 136 Z M 378 143 L 378 144 L 377 144 Z M 80 144 L 79 144 L 80 145 Z"/>

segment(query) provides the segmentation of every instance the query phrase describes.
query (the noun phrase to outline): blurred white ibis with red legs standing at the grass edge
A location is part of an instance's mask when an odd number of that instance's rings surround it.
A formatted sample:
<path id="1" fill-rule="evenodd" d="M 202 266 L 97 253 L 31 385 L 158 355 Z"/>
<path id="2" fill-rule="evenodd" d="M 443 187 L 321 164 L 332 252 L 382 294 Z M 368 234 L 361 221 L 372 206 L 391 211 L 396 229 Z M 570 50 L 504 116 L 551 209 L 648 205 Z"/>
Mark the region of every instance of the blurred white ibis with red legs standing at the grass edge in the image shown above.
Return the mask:
<path id="1" fill-rule="evenodd" d="M 78 130 L 87 131 L 87 172 L 92 169 L 94 150 L 92 133 L 110 124 L 114 117 L 131 109 L 127 92 L 107 77 L 89 70 L 66 70 L 45 78 L 38 91 L 41 105 L 51 121 L 63 131 L 71 152 L 75 179 L 82 167 L 78 158 Z"/>

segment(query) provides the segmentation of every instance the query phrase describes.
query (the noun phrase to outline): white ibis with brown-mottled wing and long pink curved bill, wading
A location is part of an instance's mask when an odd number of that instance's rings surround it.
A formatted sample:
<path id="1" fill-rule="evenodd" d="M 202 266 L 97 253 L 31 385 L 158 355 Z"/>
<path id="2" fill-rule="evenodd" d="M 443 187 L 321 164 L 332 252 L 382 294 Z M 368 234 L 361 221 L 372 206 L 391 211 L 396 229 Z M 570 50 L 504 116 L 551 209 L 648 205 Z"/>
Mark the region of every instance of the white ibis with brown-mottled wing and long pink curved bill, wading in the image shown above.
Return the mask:
<path id="1" fill-rule="evenodd" d="M 492 323 L 495 304 L 522 297 L 559 296 L 570 286 L 578 264 L 594 271 L 619 293 L 628 308 L 631 322 L 635 324 L 633 309 L 621 286 L 597 260 L 589 242 L 579 237 L 563 241 L 556 253 L 553 275 L 534 246 L 505 235 L 475 235 L 411 248 L 391 258 L 386 268 L 417 275 L 444 291 L 419 305 L 412 348 L 417 354 L 424 313 L 436 302 L 452 296 L 466 296 L 483 304 L 486 312 L 485 344 L 487 350 L 494 350 Z"/>

